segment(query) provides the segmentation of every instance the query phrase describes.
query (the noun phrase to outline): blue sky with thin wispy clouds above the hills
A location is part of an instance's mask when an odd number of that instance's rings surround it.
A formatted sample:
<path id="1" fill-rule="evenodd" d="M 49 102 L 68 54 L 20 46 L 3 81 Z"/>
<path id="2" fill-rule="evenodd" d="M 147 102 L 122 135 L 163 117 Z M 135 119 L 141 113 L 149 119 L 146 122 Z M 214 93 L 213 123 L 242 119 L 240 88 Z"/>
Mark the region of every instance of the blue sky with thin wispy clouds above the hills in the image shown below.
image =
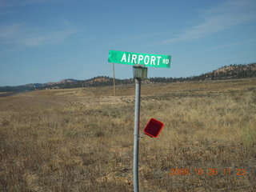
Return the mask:
<path id="1" fill-rule="evenodd" d="M 255 0 L 0 0 L 0 86 L 112 77 L 109 50 L 171 55 L 148 77 L 256 62 L 255 10 Z"/>

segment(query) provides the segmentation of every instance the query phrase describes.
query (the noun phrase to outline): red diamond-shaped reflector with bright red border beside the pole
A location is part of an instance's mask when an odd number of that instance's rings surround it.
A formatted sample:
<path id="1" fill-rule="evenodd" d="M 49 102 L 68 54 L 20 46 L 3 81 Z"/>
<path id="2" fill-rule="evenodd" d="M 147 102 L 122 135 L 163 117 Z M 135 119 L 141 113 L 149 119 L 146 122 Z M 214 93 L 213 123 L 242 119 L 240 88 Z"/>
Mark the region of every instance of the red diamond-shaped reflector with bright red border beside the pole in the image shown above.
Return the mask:
<path id="1" fill-rule="evenodd" d="M 144 133 L 149 135 L 152 138 L 157 138 L 160 134 L 164 124 L 158 120 L 151 118 L 150 121 L 146 124 L 144 128 Z"/>

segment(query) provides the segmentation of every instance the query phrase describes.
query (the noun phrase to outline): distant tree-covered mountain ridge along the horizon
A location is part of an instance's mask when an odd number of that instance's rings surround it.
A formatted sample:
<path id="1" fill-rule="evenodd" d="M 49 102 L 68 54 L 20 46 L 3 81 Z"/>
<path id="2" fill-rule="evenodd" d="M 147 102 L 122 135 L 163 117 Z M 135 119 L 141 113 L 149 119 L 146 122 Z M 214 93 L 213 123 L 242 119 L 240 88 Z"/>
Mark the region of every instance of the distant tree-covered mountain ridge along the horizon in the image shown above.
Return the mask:
<path id="1" fill-rule="evenodd" d="M 222 66 L 218 70 L 192 76 L 188 78 L 148 78 L 144 83 L 152 82 L 188 82 L 188 81 L 206 81 L 206 80 L 223 80 L 236 78 L 256 78 L 256 62 L 242 65 L 235 64 L 230 66 Z M 117 85 L 130 84 L 134 82 L 133 78 L 129 79 L 115 79 Z M 30 83 L 23 86 L 0 86 L 0 92 L 22 92 L 29 90 L 43 90 L 43 89 L 65 89 L 86 86 L 112 86 L 113 78 L 106 76 L 98 76 L 87 80 L 76 80 L 73 78 L 63 79 L 59 82 L 47 83 Z"/>

